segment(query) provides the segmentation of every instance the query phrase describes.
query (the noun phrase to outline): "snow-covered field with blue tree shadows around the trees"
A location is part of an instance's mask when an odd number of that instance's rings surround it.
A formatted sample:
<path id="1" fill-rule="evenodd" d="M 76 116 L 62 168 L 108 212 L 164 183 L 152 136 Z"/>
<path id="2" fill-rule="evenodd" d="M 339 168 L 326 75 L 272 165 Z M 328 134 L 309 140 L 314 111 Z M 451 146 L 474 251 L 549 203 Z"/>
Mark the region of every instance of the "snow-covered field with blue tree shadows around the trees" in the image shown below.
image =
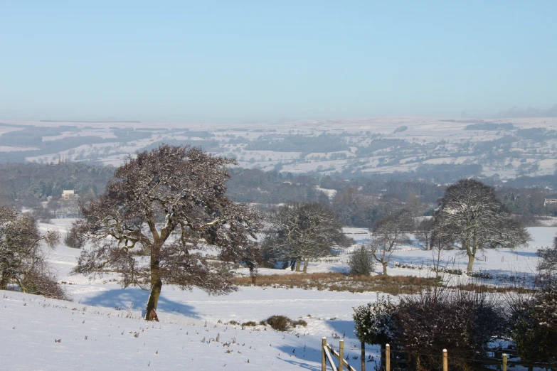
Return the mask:
<path id="1" fill-rule="evenodd" d="M 53 220 L 41 229 L 67 230 L 71 220 Z M 557 227 L 529 228 L 534 241 L 516 251 L 489 251 L 475 268 L 491 274 L 531 274 L 536 249 L 551 244 Z M 346 228 L 358 242 L 365 230 Z M 350 251 L 350 249 L 349 249 Z M 309 273 L 346 271 L 349 251 L 339 257 L 309 265 Z M 345 354 L 359 355 L 354 338 L 352 307 L 374 301 L 376 293 L 350 294 L 285 288 L 240 287 L 228 296 L 207 296 L 203 291 L 180 291 L 164 286 L 159 301 L 160 323 L 142 319 L 148 293 L 137 288 L 122 290 L 114 276 L 89 280 L 70 276 L 79 250 L 60 245 L 48 259 L 65 282 L 73 302 L 44 299 L 14 291 L 0 292 L 0 364 L 16 370 L 320 370 L 322 336 L 338 346 L 344 336 Z M 428 264 L 431 252 L 418 242 L 400 248 L 393 262 Z M 441 264 L 465 267 L 456 252 L 443 252 Z M 422 269 L 393 268 L 390 274 L 422 275 Z M 289 274 L 291 271 L 278 271 Z M 240 274 L 245 273 L 240 269 Z M 277 273 L 261 269 L 261 274 Z M 493 281 L 497 284 L 497 281 Z M 302 318 L 307 327 L 279 333 L 269 326 L 245 327 L 229 321 L 256 323 L 274 314 Z M 55 341 L 59 340 L 59 341 Z M 377 357 L 378 348 L 368 348 Z M 249 362 L 248 362 L 249 360 Z M 359 360 L 351 359 L 359 369 Z M 373 369 L 373 362 L 368 363 Z"/>

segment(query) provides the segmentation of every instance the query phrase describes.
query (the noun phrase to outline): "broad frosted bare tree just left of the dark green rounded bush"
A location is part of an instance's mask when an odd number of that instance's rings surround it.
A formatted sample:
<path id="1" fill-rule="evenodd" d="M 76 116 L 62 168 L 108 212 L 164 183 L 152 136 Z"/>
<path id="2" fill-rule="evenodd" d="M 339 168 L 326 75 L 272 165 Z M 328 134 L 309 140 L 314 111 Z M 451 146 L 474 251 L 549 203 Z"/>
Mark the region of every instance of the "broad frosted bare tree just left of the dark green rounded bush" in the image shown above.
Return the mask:
<path id="1" fill-rule="evenodd" d="M 334 213 L 321 203 L 288 203 L 269 214 L 270 230 L 263 249 L 280 259 L 296 259 L 296 271 L 309 258 L 325 257 L 331 247 L 348 247 L 352 240 L 342 232 Z"/>

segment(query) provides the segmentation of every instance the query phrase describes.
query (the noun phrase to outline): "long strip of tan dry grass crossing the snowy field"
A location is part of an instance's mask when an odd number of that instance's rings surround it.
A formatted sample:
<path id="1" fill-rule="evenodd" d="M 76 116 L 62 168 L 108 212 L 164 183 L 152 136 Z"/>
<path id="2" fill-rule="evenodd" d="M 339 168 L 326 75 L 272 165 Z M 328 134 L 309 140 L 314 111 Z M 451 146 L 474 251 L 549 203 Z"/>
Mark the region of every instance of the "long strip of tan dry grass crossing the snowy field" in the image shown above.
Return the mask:
<path id="1" fill-rule="evenodd" d="M 252 284 L 250 277 L 237 277 L 238 286 L 269 286 L 286 289 L 317 289 L 329 291 L 381 291 L 387 294 L 416 294 L 433 285 L 435 279 L 415 276 L 347 276 L 341 273 L 271 274 L 258 276 Z"/>

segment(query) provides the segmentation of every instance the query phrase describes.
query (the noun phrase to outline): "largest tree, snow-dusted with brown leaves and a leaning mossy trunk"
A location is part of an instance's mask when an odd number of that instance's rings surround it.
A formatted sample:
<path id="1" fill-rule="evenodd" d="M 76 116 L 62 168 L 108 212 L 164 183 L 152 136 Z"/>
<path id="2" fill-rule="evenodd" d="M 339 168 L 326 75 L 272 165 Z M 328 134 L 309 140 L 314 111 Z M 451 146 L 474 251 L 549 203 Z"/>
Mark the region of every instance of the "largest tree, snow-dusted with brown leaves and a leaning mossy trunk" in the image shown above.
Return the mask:
<path id="1" fill-rule="evenodd" d="M 226 197 L 231 164 L 189 146 L 162 145 L 129 158 L 106 193 L 81 210 L 74 232 L 92 248 L 83 250 L 74 272 L 117 271 L 123 287 L 150 289 L 148 321 L 158 320 L 163 283 L 217 295 L 235 290 L 232 274 L 211 267 L 202 254 L 216 248 L 221 259 L 256 268 L 258 214 Z"/>

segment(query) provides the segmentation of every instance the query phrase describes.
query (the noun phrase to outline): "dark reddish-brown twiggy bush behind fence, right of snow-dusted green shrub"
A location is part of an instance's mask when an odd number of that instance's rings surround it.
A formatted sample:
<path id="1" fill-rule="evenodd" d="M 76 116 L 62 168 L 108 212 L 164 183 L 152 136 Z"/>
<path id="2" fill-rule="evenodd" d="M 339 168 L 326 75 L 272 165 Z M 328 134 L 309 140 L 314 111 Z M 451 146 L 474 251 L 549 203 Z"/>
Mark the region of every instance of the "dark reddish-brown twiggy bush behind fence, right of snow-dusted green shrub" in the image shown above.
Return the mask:
<path id="1" fill-rule="evenodd" d="M 393 342 L 410 355 L 413 365 L 427 370 L 440 367 L 448 350 L 451 370 L 467 370 L 467 363 L 482 357 L 487 343 L 504 332 L 504 317 L 492 295 L 477 291 L 439 289 L 408 296 L 394 314 Z M 427 356 L 433 355 L 433 356 Z"/>

